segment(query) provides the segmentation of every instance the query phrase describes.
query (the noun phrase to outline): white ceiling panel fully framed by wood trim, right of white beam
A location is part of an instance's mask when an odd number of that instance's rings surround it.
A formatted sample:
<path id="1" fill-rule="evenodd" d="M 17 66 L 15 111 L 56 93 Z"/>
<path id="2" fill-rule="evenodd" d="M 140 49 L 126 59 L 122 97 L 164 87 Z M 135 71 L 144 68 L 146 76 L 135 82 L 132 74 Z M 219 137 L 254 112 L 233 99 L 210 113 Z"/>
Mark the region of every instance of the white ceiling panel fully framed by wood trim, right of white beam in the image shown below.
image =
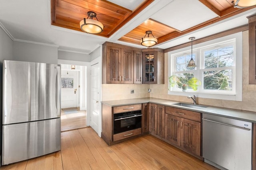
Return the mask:
<path id="1" fill-rule="evenodd" d="M 173 0 L 150 18 L 184 31 L 215 17 L 217 14 L 198 0 Z"/>

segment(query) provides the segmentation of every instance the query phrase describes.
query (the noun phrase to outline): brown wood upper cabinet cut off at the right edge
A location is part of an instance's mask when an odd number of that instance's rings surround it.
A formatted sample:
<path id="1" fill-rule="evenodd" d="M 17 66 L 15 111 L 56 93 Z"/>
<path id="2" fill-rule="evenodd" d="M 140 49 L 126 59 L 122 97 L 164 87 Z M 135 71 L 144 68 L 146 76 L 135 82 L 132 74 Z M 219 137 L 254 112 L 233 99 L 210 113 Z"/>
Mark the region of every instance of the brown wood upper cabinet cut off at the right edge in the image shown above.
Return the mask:
<path id="1" fill-rule="evenodd" d="M 256 14 L 247 18 L 249 23 L 249 84 L 256 84 Z"/>

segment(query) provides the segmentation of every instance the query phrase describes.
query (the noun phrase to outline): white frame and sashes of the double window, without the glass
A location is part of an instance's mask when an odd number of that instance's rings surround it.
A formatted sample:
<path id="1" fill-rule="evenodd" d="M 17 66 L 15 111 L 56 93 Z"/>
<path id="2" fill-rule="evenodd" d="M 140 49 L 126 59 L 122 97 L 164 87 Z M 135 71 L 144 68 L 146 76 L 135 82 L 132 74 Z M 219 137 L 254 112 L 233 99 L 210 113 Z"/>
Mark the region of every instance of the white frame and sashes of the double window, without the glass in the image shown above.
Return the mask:
<path id="1" fill-rule="evenodd" d="M 182 90 L 174 89 L 173 87 L 168 89 L 168 94 L 170 95 L 179 95 L 179 96 L 188 96 L 190 93 L 196 94 L 198 97 L 202 98 L 213 98 L 213 99 L 222 99 L 222 100 L 234 100 L 234 101 L 242 101 L 242 32 L 234 33 L 231 35 L 227 35 L 225 37 L 220 37 L 217 39 L 213 39 L 210 41 L 205 41 L 203 43 L 199 43 L 193 45 L 193 54 L 196 55 L 196 63 L 200 63 L 200 66 L 196 67 L 196 71 L 194 72 L 194 77 L 198 78 L 200 81 L 203 79 L 204 69 L 204 60 L 202 58 L 203 51 L 209 49 L 214 46 L 216 47 L 224 47 L 227 43 L 230 44 L 230 41 L 235 39 L 234 42 L 234 66 L 220 67 L 221 70 L 226 70 L 226 68 L 234 69 L 232 72 L 232 92 L 230 91 L 218 91 L 214 92 L 214 90 L 206 90 L 203 89 L 203 82 L 201 86 L 199 86 L 198 90 L 188 90 L 187 92 L 182 92 Z M 168 77 L 170 77 L 174 72 L 173 69 L 176 70 L 176 57 L 177 55 L 186 55 L 189 54 L 191 56 L 191 46 L 185 47 L 182 49 L 177 49 L 174 51 L 168 52 Z M 219 68 L 213 68 L 219 69 Z M 199 71 L 198 71 L 199 70 Z M 207 68 L 208 70 L 208 68 Z M 193 72 L 194 70 L 186 70 L 182 72 Z M 176 72 L 181 73 L 181 72 Z M 168 82 L 169 87 L 169 82 Z"/>

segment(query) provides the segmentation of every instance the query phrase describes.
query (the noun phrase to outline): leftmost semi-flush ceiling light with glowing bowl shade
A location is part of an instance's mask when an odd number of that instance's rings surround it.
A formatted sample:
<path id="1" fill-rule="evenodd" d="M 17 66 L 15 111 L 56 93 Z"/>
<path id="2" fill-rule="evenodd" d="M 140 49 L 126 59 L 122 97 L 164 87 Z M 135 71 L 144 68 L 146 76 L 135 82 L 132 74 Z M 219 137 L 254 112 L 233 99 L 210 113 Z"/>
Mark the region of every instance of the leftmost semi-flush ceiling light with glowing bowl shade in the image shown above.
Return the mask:
<path id="1" fill-rule="evenodd" d="M 103 24 L 98 20 L 96 17 L 95 12 L 87 12 L 88 17 L 87 19 L 84 18 L 84 20 L 80 21 L 80 28 L 82 31 L 86 33 L 91 33 L 91 34 L 97 34 L 101 33 L 103 31 Z M 88 19 L 90 17 L 90 19 Z M 92 18 L 96 18 L 97 20 L 92 20 Z"/>

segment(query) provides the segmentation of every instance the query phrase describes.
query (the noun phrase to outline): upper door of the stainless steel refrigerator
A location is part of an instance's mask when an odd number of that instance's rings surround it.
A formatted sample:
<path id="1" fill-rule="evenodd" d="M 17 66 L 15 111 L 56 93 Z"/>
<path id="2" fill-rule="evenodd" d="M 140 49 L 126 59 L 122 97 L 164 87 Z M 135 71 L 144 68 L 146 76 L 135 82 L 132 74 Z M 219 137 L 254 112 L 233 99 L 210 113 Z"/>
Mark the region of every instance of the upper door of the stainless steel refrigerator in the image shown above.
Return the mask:
<path id="1" fill-rule="evenodd" d="M 60 117 L 60 67 L 3 61 L 3 124 L 56 117 Z"/>

